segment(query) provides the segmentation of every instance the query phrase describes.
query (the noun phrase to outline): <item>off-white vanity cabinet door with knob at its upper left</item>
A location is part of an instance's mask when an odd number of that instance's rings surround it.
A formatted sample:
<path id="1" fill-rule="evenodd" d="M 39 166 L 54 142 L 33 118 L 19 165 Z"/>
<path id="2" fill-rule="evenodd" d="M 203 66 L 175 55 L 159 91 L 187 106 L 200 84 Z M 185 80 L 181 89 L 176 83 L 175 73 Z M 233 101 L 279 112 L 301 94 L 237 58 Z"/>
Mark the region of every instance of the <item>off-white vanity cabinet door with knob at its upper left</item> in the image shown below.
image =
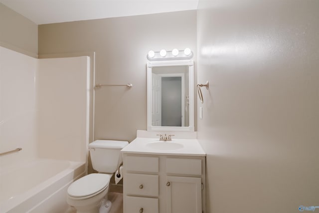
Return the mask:
<path id="1" fill-rule="evenodd" d="M 201 178 L 166 176 L 167 213 L 202 213 Z"/>

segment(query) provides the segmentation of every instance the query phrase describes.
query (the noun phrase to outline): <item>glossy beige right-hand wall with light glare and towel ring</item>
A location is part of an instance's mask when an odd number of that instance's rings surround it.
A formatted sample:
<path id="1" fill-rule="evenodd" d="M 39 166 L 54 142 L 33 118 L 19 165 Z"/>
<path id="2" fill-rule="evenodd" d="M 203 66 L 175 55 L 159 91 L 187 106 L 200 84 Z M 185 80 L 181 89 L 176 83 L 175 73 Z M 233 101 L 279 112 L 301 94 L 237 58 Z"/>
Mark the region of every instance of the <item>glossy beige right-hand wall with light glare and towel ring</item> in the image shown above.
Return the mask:
<path id="1" fill-rule="evenodd" d="M 319 205 L 318 9 L 318 0 L 199 0 L 208 213 Z"/>

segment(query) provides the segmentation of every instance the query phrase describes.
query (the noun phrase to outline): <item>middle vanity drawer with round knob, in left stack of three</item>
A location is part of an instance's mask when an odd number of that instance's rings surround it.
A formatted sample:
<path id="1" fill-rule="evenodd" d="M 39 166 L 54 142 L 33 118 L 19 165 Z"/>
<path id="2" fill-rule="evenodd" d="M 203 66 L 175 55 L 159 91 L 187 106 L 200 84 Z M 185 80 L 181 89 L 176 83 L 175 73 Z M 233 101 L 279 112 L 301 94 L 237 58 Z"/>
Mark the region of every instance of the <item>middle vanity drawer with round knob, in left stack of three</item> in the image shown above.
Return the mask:
<path id="1" fill-rule="evenodd" d="M 159 196 L 159 176 L 127 173 L 124 177 L 126 194 Z"/>

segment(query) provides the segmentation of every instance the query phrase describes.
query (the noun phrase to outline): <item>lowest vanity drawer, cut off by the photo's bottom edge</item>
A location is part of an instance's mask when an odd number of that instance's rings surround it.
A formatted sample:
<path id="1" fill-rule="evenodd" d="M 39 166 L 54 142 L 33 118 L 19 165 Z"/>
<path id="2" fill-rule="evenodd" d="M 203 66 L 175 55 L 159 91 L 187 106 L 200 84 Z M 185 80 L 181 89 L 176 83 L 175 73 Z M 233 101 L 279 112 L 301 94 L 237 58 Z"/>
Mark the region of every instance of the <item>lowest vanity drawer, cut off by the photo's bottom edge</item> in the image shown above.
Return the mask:
<path id="1" fill-rule="evenodd" d="M 124 211 L 125 213 L 159 213 L 159 199 L 126 196 Z"/>

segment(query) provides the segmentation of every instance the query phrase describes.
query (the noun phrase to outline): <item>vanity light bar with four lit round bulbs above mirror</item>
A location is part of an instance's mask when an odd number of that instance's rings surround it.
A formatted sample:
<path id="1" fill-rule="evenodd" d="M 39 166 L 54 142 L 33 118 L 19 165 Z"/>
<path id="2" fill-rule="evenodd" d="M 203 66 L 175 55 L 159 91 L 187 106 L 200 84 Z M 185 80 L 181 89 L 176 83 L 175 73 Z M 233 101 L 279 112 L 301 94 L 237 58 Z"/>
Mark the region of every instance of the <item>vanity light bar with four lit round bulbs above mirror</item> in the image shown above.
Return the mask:
<path id="1" fill-rule="evenodd" d="M 150 61 L 162 61 L 162 60 L 184 60 L 191 59 L 193 57 L 193 52 L 190 48 L 185 48 L 184 50 L 178 50 L 174 48 L 171 51 L 166 51 L 162 49 L 160 51 L 150 50 L 147 54 L 147 59 Z"/>

